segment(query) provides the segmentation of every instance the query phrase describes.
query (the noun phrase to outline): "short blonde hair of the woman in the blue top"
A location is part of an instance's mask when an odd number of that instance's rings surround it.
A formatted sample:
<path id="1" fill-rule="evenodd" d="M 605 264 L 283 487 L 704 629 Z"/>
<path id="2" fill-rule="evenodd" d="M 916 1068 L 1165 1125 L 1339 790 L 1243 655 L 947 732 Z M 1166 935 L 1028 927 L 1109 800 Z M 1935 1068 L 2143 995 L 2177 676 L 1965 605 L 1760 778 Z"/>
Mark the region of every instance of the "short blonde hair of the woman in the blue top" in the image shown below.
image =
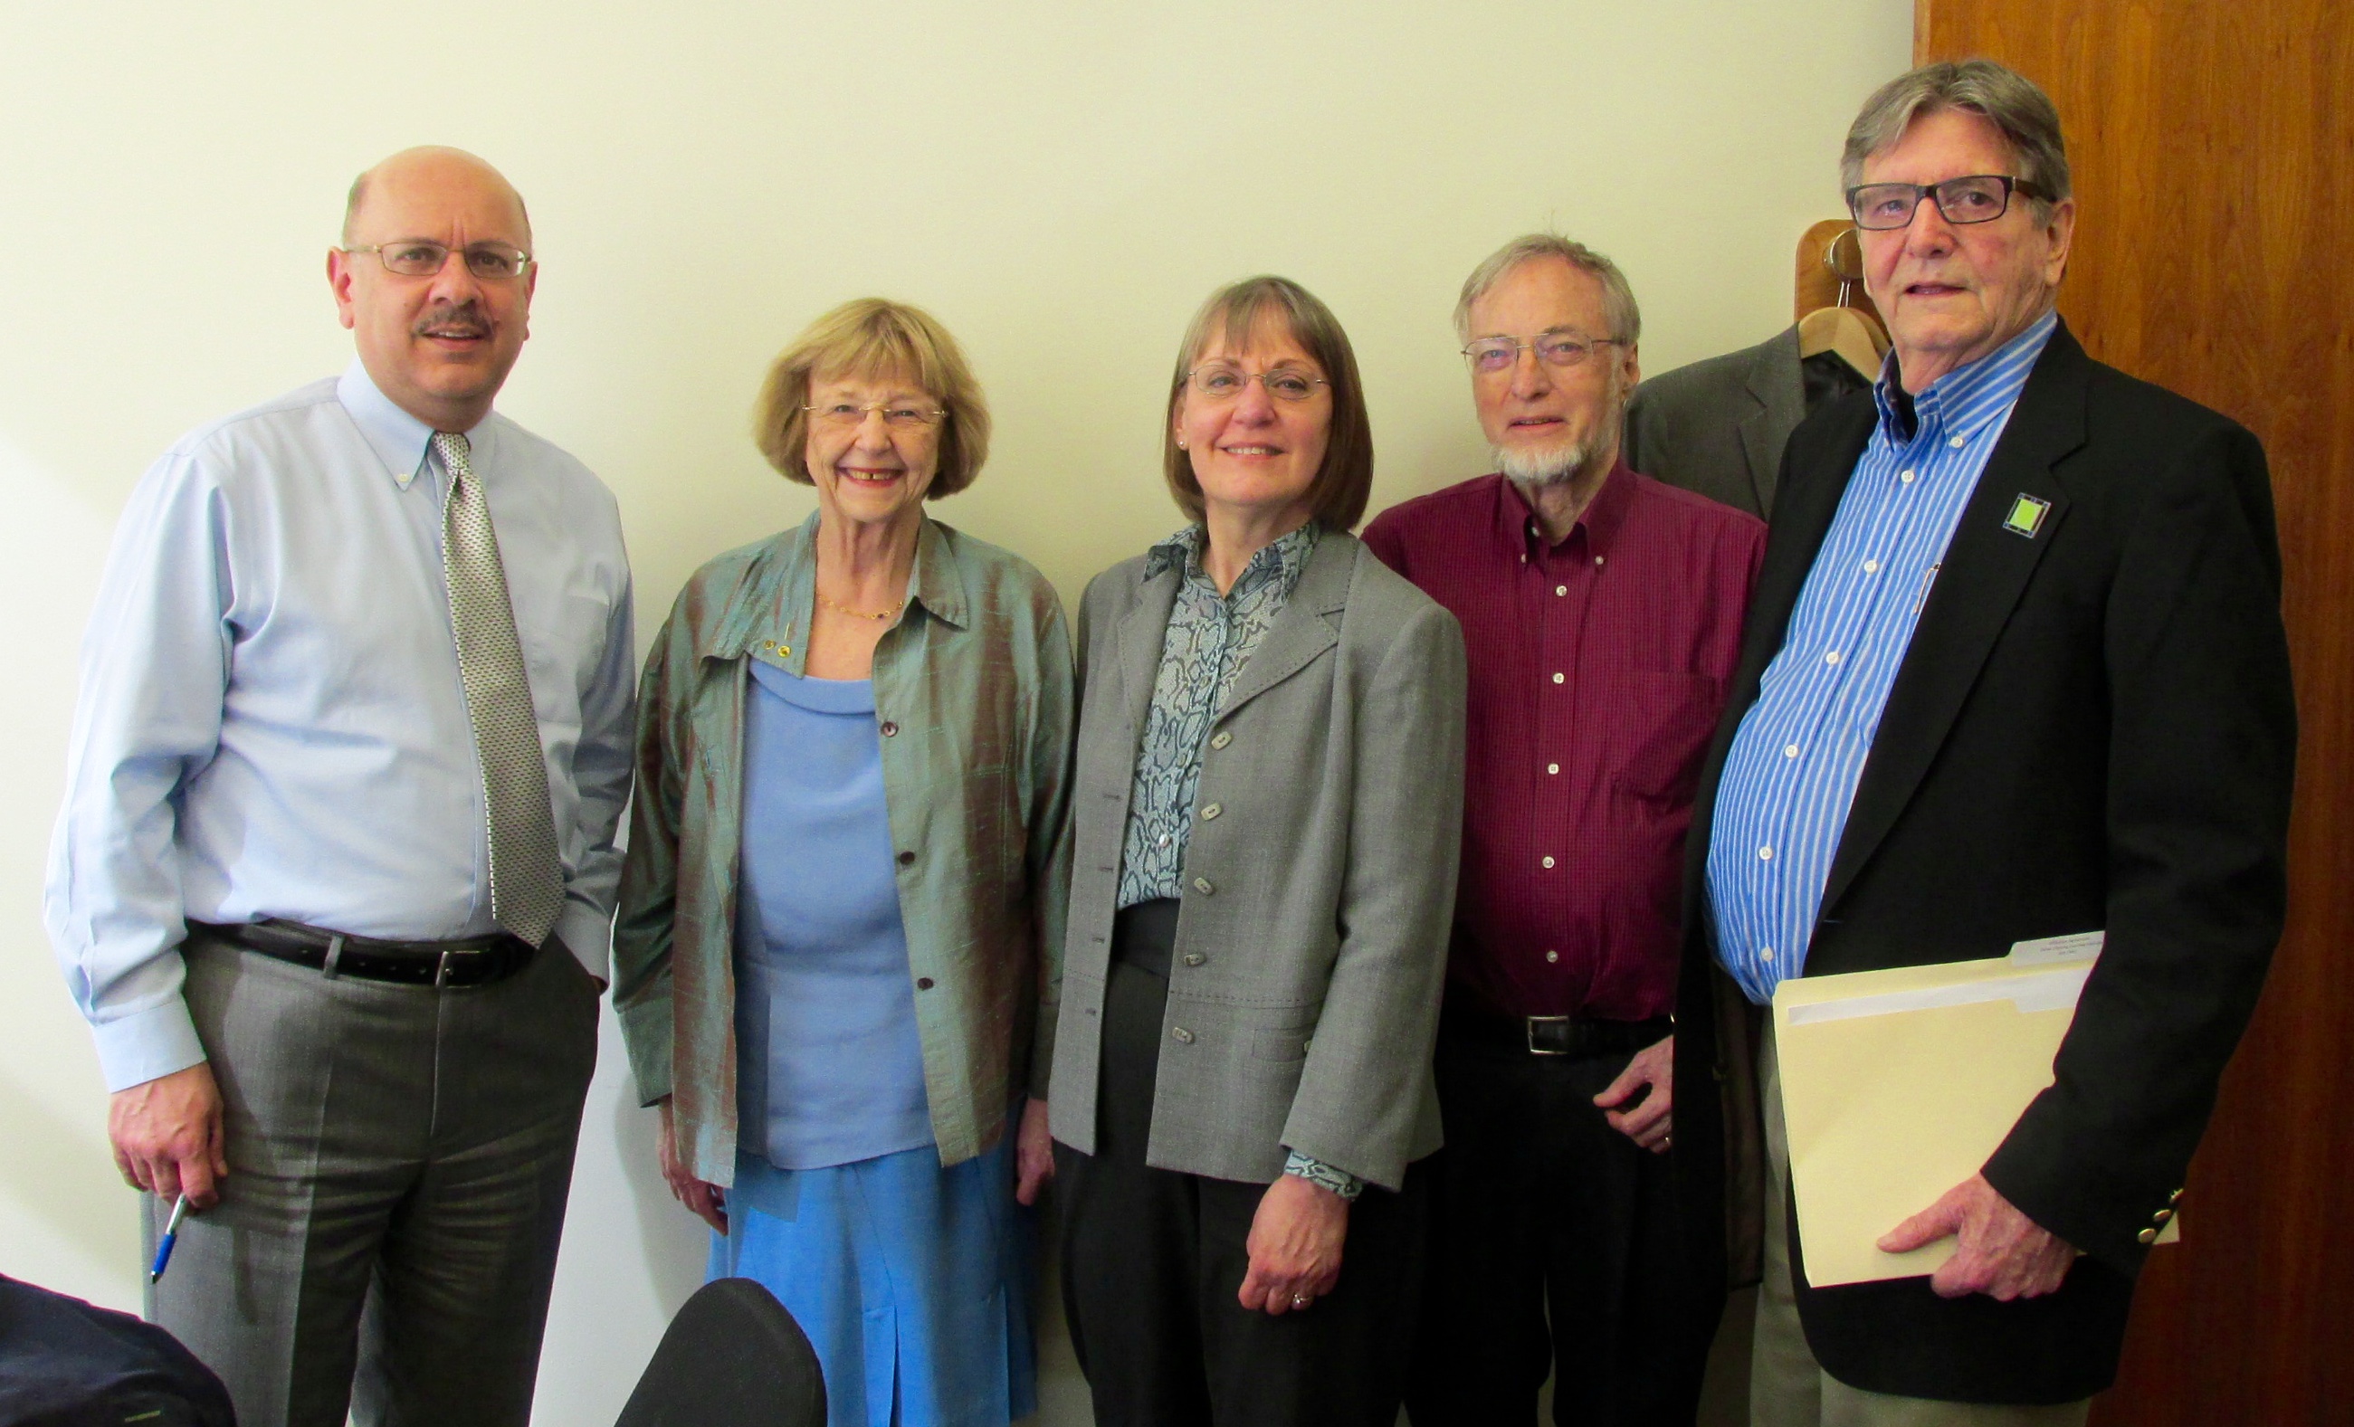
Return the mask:
<path id="1" fill-rule="evenodd" d="M 862 381 L 902 379 L 920 386 L 949 414 L 939 426 L 939 471 L 925 499 L 972 485 L 989 459 L 989 403 L 972 379 L 965 353 L 939 320 L 904 301 L 859 297 L 810 323 L 786 346 L 760 384 L 751 410 L 751 436 L 770 466 L 786 480 L 814 485 L 805 459 L 810 447 L 810 384 L 817 377 Z"/>

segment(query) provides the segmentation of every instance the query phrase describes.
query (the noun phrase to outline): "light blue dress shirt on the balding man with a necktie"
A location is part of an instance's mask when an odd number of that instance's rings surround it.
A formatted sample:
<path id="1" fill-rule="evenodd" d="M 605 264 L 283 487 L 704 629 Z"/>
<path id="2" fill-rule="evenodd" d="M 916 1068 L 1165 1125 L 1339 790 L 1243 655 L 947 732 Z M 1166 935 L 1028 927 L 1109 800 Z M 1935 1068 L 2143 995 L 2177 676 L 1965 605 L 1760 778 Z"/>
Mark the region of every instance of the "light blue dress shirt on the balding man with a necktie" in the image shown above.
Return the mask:
<path id="1" fill-rule="evenodd" d="M 111 1090 L 205 1060 L 186 921 L 494 930 L 431 436 L 353 363 L 186 436 L 122 511 L 42 900 Z M 504 417 L 466 436 L 548 763 L 556 930 L 603 977 L 636 685 L 619 511 Z"/>

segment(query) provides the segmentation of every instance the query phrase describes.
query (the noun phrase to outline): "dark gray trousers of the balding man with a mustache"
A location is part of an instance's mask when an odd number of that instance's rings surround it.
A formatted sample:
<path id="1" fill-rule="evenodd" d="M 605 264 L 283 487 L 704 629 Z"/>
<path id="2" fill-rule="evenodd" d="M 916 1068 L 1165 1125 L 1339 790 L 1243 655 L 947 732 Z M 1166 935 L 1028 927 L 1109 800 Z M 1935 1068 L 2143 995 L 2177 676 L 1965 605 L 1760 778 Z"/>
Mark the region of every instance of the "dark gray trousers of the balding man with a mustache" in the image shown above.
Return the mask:
<path id="1" fill-rule="evenodd" d="M 525 1427 L 596 980 L 556 940 L 468 989 L 330 980 L 202 932 L 184 954 L 228 1180 L 148 1319 L 245 1427 Z M 148 1253 L 167 1210 L 146 1199 Z"/>

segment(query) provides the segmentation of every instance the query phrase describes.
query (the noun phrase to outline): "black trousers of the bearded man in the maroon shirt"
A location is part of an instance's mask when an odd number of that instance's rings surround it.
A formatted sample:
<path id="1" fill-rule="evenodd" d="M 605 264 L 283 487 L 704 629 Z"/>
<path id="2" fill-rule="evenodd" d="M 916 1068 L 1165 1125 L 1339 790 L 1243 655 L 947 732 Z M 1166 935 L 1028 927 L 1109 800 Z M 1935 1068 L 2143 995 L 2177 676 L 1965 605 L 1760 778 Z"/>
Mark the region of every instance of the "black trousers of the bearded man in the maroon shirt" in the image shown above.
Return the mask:
<path id="1" fill-rule="evenodd" d="M 1594 1107 L 1627 1060 L 1443 1024 L 1415 1427 L 1528 1427 L 1547 1368 L 1561 1427 L 1693 1422 L 1723 1305 L 1683 1272 L 1667 1156 Z"/>

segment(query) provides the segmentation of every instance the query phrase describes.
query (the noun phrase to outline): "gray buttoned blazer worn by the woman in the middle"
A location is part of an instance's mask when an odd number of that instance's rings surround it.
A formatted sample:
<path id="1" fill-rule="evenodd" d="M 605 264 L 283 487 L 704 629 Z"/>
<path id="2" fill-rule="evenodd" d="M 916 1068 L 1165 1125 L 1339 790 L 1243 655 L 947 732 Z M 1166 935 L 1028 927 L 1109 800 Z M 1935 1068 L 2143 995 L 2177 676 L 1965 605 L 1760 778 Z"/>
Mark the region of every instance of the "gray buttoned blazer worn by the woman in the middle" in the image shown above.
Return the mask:
<path id="1" fill-rule="evenodd" d="M 1128 794 L 1179 579 L 1146 582 L 1137 556 L 1097 575 L 1078 615 L 1050 1100 L 1055 1137 L 1088 1154 Z M 1462 629 L 1325 532 L 1203 749 L 1146 1163 L 1266 1184 L 1290 1147 L 1396 1189 L 1438 1149 L 1462 796 Z"/>

